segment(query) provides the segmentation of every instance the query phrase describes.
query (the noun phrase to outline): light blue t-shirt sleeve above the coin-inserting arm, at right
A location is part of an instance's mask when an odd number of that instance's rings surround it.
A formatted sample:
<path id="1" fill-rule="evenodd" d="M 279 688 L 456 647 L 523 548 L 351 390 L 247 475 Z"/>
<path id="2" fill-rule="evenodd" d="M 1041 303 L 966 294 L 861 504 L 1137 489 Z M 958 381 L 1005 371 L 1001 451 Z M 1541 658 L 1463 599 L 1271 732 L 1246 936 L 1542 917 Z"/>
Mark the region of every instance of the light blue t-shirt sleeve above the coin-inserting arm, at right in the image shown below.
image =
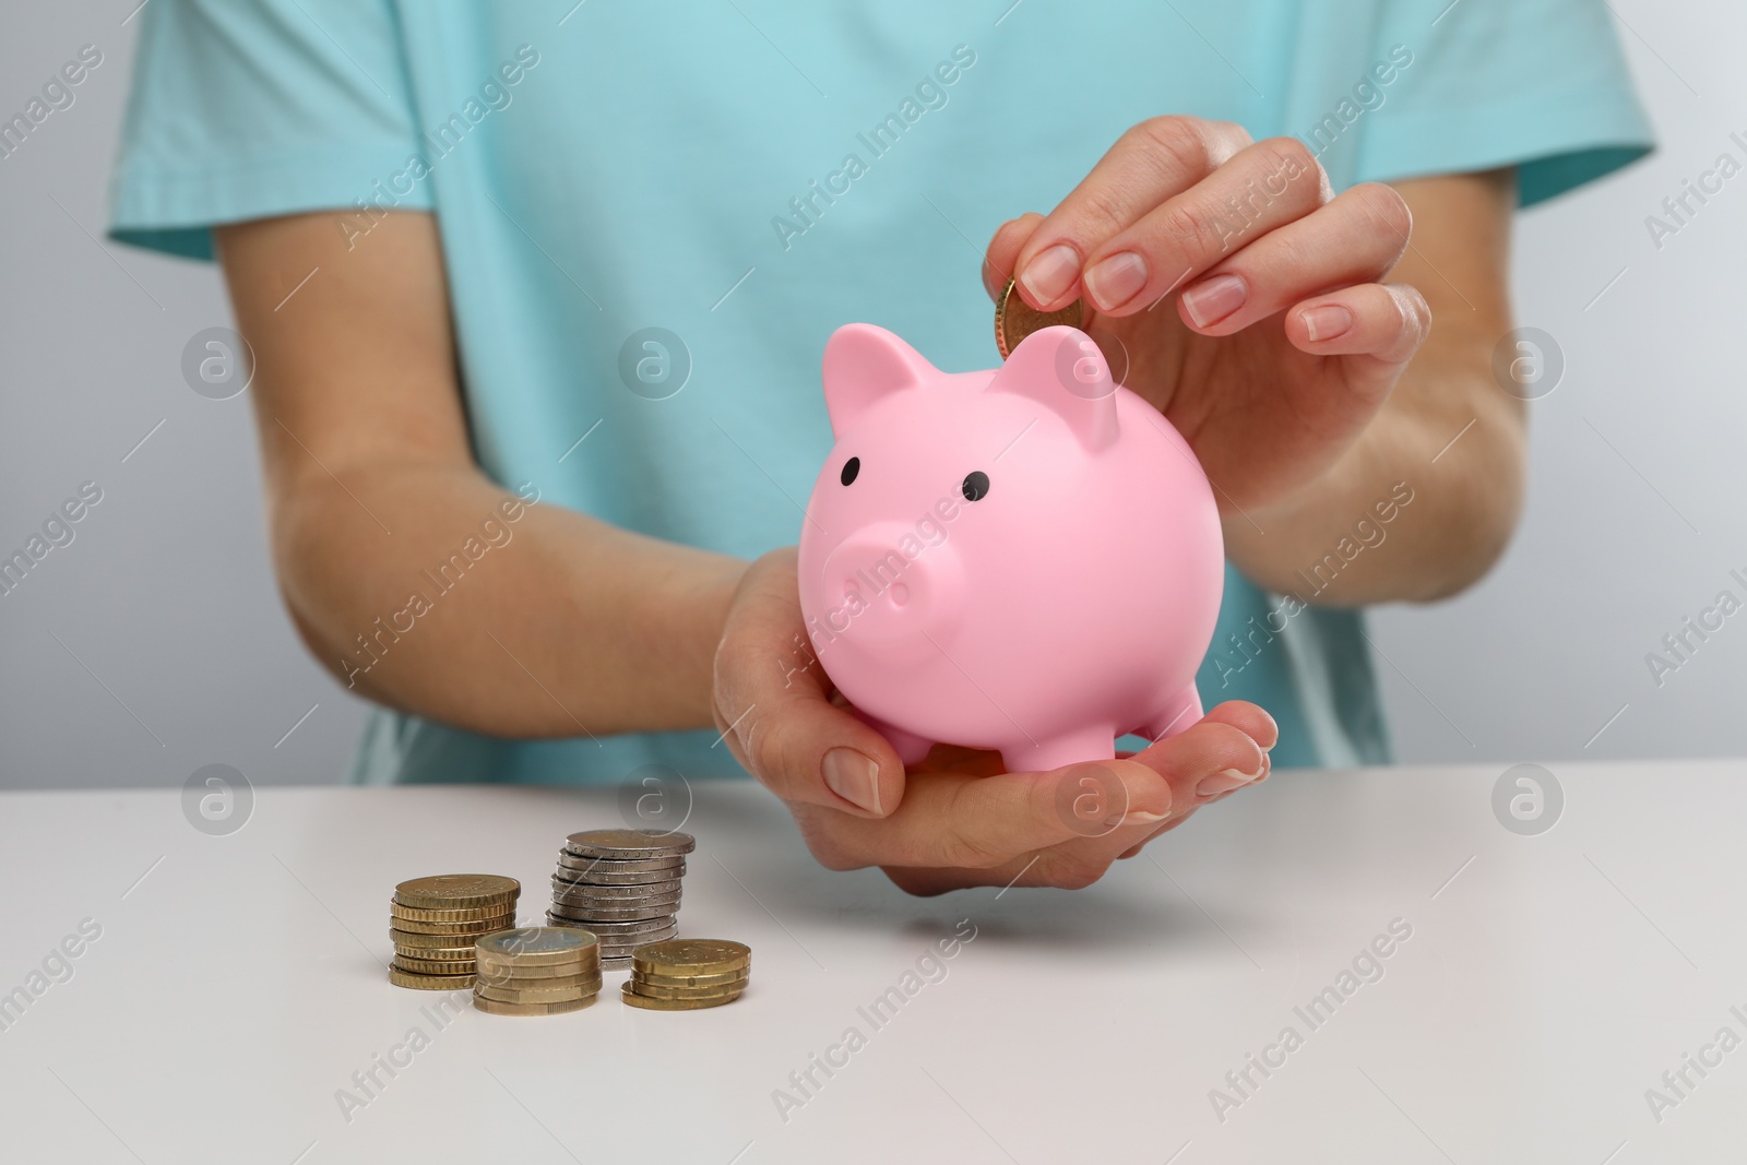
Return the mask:
<path id="1" fill-rule="evenodd" d="M 1305 122 L 1345 131 L 1340 185 L 1515 166 L 1532 206 L 1653 147 L 1600 0 L 1384 0 L 1373 28 L 1371 59 Z"/>

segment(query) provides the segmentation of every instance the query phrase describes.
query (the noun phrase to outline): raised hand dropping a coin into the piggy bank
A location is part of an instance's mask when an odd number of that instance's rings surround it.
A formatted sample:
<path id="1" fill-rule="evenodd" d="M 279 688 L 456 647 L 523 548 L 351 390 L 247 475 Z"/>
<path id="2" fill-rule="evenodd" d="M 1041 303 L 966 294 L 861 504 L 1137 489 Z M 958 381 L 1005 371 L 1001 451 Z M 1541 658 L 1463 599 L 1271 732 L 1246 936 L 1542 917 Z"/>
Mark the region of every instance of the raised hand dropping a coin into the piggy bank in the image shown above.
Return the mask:
<path id="1" fill-rule="evenodd" d="M 1296 138 L 1157 117 L 1048 217 L 1005 224 L 984 281 L 994 295 L 1015 274 L 1043 311 L 1083 299 L 1116 379 L 1188 438 L 1221 510 L 1265 510 L 1335 465 L 1431 330 L 1415 288 L 1380 283 L 1410 229 L 1387 185 L 1335 197 Z"/>

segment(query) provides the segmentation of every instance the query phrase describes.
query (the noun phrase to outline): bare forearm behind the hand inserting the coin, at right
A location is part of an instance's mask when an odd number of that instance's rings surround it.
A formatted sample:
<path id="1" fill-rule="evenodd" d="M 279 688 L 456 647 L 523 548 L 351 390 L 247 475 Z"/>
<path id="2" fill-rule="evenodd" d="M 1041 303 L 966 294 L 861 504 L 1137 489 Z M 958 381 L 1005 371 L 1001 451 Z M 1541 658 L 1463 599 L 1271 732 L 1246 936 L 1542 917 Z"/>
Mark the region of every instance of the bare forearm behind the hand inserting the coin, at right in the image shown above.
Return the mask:
<path id="1" fill-rule="evenodd" d="M 1226 515 L 1226 554 L 1256 585 L 1317 606 L 1427 601 L 1504 552 L 1523 493 L 1520 402 L 1471 358 L 1415 362 L 1396 395 L 1309 487 Z"/>

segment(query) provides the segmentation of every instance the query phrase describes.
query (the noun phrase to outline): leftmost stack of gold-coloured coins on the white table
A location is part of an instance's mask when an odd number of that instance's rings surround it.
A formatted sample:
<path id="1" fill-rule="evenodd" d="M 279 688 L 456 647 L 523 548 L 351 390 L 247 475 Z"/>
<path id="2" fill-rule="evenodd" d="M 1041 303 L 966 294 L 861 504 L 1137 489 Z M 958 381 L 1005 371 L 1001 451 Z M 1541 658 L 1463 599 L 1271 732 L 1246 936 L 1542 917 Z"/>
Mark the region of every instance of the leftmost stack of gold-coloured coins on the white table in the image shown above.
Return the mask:
<path id="1" fill-rule="evenodd" d="M 397 886 L 388 982 L 421 990 L 472 987 L 473 941 L 515 926 L 521 893 L 521 882 L 494 873 L 438 873 Z"/>

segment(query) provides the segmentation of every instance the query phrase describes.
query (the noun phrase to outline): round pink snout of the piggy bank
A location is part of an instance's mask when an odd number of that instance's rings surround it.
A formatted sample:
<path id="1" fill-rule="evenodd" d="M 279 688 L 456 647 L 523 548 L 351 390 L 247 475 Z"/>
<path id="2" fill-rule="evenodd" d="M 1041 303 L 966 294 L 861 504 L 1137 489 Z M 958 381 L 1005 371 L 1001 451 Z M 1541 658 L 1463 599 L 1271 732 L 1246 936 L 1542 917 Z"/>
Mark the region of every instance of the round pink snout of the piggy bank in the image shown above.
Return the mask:
<path id="1" fill-rule="evenodd" d="M 880 522 L 849 534 L 825 561 L 826 625 L 882 655 L 922 655 L 964 610 L 964 578 L 947 541 Z"/>

